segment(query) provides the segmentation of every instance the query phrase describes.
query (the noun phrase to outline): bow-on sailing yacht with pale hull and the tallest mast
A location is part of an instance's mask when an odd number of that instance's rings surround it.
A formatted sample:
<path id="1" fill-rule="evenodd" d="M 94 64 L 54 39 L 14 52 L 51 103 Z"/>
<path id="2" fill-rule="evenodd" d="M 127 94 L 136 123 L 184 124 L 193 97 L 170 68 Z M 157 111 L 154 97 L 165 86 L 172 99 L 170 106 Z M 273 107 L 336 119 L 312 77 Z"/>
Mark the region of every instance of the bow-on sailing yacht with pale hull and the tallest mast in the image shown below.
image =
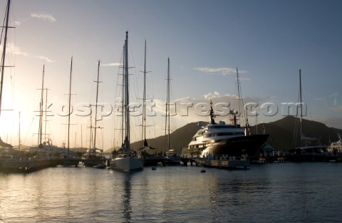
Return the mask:
<path id="1" fill-rule="evenodd" d="M 144 165 L 144 160 L 137 156 L 135 151 L 130 150 L 130 111 L 129 111 L 129 90 L 128 90 L 128 31 L 124 46 L 123 59 L 123 109 L 125 116 L 125 132 L 123 144 L 118 151 L 113 152 L 113 159 L 110 160 L 110 167 L 114 170 L 140 170 Z M 124 131 L 124 130 L 122 130 Z"/>

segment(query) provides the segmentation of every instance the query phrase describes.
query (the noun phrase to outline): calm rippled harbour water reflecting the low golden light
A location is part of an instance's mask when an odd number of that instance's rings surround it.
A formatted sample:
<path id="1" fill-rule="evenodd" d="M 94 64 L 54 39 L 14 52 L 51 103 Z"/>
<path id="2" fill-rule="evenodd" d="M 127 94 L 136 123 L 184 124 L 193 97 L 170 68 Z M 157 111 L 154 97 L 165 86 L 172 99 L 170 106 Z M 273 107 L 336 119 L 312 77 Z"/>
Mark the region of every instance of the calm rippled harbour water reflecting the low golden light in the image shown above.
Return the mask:
<path id="1" fill-rule="evenodd" d="M 0 222 L 341 222 L 342 163 L 0 173 Z"/>

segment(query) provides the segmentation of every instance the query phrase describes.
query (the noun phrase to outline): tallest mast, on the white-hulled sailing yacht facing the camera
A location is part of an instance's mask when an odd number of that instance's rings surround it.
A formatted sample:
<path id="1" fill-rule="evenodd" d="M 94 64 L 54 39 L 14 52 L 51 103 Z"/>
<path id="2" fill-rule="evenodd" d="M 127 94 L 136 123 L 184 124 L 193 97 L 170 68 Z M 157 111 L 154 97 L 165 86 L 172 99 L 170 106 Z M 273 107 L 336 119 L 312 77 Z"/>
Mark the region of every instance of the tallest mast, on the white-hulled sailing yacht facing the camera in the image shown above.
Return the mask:
<path id="1" fill-rule="evenodd" d="M 125 40 L 125 151 L 130 151 L 130 110 L 128 106 L 130 105 L 130 95 L 128 93 L 128 31 L 126 31 Z"/>

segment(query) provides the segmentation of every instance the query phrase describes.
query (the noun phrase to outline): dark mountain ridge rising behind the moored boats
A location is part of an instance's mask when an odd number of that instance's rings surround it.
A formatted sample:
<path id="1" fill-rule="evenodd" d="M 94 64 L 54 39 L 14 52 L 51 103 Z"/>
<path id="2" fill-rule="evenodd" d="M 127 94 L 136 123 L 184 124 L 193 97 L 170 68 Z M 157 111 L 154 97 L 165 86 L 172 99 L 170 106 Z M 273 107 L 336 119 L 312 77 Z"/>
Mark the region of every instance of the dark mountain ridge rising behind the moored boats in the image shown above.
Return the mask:
<path id="1" fill-rule="evenodd" d="M 338 140 L 338 133 L 342 133 L 341 129 L 329 128 L 323 123 L 311 120 L 302 120 L 302 131 L 306 137 L 316 138 L 319 144 L 330 145 L 331 142 Z M 286 116 L 281 120 L 272 123 L 261 123 L 251 127 L 252 134 L 261 134 L 263 129 L 269 134 L 267 142 L 273 145 L 276 150 L 289 151 L 300 145 L 300 120 L 294 116 Z M 204 123 L 207 125 L 207 123 Z M 187 147 L 192 136 L 199 130 L 197 123 L 188 123 L 182 128 L 178 128 L 170 134 L 170 148 L 174 149 L 177 154 L 181 153 L 182 147 Z M 294 134 L 296 133 L 296 134 Z M 296 141 L 296 143 L 294 143 Z M 148 145 L 155 148 L 155 152 L 165 152 L 167 137 L 160 136 L 153 139 L 147 139 Z M 133 150 L 142 147 L 142 141 L 132 143 Z M 109 152 L 111 152 L 111 149 Z M 106 151 L 108 152 L 108 151 Z"/>

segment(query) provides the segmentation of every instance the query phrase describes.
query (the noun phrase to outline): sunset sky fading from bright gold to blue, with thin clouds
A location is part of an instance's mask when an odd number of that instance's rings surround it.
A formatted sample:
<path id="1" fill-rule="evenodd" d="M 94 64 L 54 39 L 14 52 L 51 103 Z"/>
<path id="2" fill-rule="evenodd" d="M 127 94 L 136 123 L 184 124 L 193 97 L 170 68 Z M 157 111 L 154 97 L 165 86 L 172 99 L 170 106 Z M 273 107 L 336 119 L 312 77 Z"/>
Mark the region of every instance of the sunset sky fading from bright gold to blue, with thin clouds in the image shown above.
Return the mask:
<path id="1" fill-rule="evenodd" d="M 5 8 L 1 1 L 1 23 Z M 208 121 L 210 100 L 217 121 L 229 123 L 229 110 L 244 110 L 237 100 L 237 71 L 250 125 L 296 115 L 288 105 L 299 102 L 299 70 L 304 118 L 342 129 L 342 1 L 12 0 L 10 9 L 9 26 L 15 28 L 9 28 L 6 66 L 14 67 L 4 70 L 0 135 L 12 145 L 19 144 L 19 133 L 22 145 L 38 143 L 43 66 L 45 137 L 58 146 L 67 142 L 72 73 L 70 147 L 92 147 L 95 106 L 88 105 L 95 104 L 99 73 L 103 106 L 95 146 L 119 145 L 126 31 L 131 141 L 142 138 L 145 41 L 147 138 L 165 134 L 167 58 L 171 131 Z M 1 38 L 1 54 L 3 44 Z"/>

